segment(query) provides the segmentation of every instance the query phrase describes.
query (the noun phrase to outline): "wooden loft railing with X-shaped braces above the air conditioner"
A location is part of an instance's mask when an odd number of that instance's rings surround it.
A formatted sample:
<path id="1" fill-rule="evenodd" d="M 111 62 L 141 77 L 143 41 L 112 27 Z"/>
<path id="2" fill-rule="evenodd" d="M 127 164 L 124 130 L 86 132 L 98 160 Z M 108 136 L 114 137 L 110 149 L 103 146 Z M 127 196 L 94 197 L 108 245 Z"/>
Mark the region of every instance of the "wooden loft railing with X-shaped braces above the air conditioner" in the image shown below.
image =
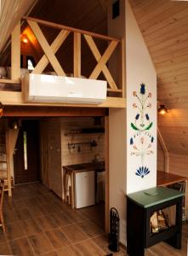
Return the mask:
<path id="1" fill-rule="evenodd" d="M 26 17 L 24 18 L 28 25 L 31 27 L 32 32 L 34 33 L 35 37 L 37 38 L 38 43 L 41 45 L 44 55 L 41 60 L 37 63 L 37 66 L 34 68 L 32 73 L 40 74 L 43 73 L 45 67 L 48 66 L 48 63 L 54 68 L 54 72 L 59 76 L 66 76 L 66 72 L 60 66 L 60 62 L 55 56 L 55 53 L 60 46 L 65 42 L 66 38 L 70 34 L 70 32 L 74 33 L 74 67 L 73 73 L 74 77 L 81 76 L 81 36 L 85 38 L 89 49 L 94 55 L 95 60 L 97 61 L 94 70 L 88 77 L 88 79 L 98 79 L 100 73 L 102 72 L 105 76 L 106 81 L 108 82 L 108 90 L 112 92 L 122 93 L 123 82 L 121 85 L 117 87 L 115 80 L 113 79 L 109 68 L 107 67 L 107 62 L 111 58 L 111 55 L 114 53 L 115 49 L 117 49 L 117 45 L 119 44 L 122 49 L 122 40 L 117 38 L 111 38 L 107 36 L 103 36 L 94 32 L 87 32 L 80 29 L 72 28 L 69 26 L 63 26 L 59 24 L 54 24 L 52 22 L 44 21 L 44 20 L 37 20 L 33 18 Z M 50 26 L 56 29 L 60 29 L 58 36 L 54 39 L 54 42 L 49 45 L 47 39 L 45 38 L 39 24 L 43 26 Z M 100 50 L 98 49 L 97 45 L 94 42 L 94 38 L 100 38 L 107 40 L 109 42 L 107 49 L 105 49 L 105 53 L 103 55 L 100 54 Z M 123 53 L 122 53 L 123 55 Z M 118 63 L 117 63 L 118 64 Z M 122 63 L 123 66 L 123 56 L 122 56 Z M 123 81 L 123 68 L 122 70 L 122 79 Z"/>

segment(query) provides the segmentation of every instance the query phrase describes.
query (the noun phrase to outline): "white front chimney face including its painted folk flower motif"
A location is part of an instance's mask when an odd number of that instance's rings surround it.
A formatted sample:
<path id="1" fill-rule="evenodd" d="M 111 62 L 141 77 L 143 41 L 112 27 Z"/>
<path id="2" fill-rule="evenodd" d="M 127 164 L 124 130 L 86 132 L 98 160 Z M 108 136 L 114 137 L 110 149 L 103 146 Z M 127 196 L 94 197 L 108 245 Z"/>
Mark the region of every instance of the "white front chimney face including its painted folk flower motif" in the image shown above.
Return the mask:
<path id="1" fill-rule="evenodd" d="M 132 193 L 157 184 L 157 73 L 128 1 L 126 79 L 127 193 Z"/>

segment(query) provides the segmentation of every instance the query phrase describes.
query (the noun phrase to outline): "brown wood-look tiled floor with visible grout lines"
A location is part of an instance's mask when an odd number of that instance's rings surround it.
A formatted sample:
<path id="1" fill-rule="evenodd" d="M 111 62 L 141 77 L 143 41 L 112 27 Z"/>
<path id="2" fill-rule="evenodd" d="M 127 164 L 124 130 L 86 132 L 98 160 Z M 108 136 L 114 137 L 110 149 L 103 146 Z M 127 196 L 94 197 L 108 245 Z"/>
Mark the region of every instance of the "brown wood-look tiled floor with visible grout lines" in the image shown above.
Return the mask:
<path id="1" fill-rule="evenodd" d="M 108 255 L 103 231 L 104 205 L 72 210 L 41 183 L 16 186 L 3 205 L 6 233 L 0 230 L 0 255 Z M 188 224 L 182 250 L 164 242 L 145 250 L 146 256 L 187 256 Z M 127 255 L 121 248 L 113 255 Z"/>

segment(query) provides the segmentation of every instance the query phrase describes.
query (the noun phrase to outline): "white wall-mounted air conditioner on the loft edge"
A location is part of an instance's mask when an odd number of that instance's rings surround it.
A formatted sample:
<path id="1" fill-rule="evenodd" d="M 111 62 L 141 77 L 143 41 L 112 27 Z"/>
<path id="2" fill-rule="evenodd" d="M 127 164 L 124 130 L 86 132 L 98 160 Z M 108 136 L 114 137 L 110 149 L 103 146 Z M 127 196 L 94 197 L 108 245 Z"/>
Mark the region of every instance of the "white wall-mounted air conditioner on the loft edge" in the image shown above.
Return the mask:
<path id="1" fill-rule="evenodd" d="M 25 102 L 100 104 L 106 99 L 106 81 L 26 74 L 22 82 Z"/>

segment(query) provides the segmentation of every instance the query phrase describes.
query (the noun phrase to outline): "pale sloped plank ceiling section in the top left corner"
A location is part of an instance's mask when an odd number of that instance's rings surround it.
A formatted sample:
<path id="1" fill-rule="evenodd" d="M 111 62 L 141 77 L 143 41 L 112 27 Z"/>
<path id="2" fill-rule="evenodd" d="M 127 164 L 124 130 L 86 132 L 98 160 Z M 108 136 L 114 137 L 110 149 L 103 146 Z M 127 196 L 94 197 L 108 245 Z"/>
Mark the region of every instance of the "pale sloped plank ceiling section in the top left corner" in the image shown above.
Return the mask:
<path id="1" fill-rule="evenodd" d="M 7 43 L 14 26 L 36 2 L 36 0 L 1 0 L 0 52 Z"/>

